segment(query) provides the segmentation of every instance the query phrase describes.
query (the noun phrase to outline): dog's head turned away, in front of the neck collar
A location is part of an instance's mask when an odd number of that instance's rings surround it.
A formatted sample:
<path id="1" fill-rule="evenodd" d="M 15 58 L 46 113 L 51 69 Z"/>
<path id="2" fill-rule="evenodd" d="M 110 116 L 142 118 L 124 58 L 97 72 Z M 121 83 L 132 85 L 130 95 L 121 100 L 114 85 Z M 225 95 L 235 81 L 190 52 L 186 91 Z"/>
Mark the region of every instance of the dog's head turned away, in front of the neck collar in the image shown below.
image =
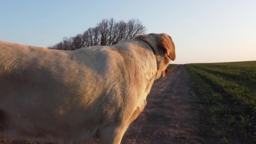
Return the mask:
<path id="1" fill-rule="evenodd" d="M 171 36 L 161 33 L 150 33 L 147 35 L 138 35 L 134 37 L 147 43 L 151 48 L 157 59 L 157 74 L 156 78 L 164 77 L 168 73 L 167 66 L 170 61 L 176 59 L 175 45 Z"/>

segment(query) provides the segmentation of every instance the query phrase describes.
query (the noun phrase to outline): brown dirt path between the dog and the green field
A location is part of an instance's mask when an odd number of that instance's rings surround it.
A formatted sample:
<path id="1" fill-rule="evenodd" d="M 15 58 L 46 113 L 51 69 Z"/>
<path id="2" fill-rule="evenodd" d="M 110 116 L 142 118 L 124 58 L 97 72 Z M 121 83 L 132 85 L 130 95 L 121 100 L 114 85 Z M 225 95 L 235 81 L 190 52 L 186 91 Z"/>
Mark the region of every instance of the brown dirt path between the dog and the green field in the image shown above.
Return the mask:
<path id="1" fill-rule="evenodd" d="M 199 136 L 199 105 L 192 102 L 189 79 L 184 65 L 179 65 L 155 81 L 144 112 L 126 131 L 122 144 L 216 144 Z"/>

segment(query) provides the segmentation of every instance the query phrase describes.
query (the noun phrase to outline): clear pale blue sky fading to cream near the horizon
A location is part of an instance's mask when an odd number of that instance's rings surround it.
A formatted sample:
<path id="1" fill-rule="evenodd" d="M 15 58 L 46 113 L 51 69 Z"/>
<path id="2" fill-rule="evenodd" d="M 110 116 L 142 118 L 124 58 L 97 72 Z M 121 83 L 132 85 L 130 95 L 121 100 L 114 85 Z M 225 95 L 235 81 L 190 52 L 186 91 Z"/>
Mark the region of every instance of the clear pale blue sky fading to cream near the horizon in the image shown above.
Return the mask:
<path id="1" fill-rule="evenodd" d="M 111 17 L 171 35 L 176 64 L 256 60 L 256 0 L 0 0 L 0 40 L 47 47 Z"/>

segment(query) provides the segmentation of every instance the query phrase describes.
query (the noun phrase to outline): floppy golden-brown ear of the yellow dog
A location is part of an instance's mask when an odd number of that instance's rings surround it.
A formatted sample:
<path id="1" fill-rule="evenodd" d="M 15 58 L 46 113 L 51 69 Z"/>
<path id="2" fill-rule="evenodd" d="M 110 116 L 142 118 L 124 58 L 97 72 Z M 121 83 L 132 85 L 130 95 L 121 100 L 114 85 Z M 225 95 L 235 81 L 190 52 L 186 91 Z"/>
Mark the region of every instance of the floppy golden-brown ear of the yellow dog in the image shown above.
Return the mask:
<path id="1" fill-rule="evenodd" d="M 158 35 L 157 43 L 159 48 L 163 48 L 167 56 L 174 61 L 176 59 L 175 45 L 171 37 L 165 33 Z"/>

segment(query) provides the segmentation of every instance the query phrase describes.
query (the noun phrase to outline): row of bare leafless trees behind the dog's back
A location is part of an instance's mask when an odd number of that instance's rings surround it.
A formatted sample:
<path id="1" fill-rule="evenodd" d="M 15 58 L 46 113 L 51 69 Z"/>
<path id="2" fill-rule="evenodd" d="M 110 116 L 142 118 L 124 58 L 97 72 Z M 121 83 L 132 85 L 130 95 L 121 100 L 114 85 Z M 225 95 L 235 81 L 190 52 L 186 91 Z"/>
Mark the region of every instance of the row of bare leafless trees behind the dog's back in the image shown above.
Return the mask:
<path id="1" fill-rule="evenodd" d="M 139 34 L 144 34 L 146 27 L 139 19 L 129 21 L 114 21 L 102 19 L 96 27 L 90 27 L 83 34 L 74 37 L 64 37 L 55 45 L 49 46 L 51 49 L 72 51 L 93 45 L 114 45 L 120 40 L 127 40 Z"/>

